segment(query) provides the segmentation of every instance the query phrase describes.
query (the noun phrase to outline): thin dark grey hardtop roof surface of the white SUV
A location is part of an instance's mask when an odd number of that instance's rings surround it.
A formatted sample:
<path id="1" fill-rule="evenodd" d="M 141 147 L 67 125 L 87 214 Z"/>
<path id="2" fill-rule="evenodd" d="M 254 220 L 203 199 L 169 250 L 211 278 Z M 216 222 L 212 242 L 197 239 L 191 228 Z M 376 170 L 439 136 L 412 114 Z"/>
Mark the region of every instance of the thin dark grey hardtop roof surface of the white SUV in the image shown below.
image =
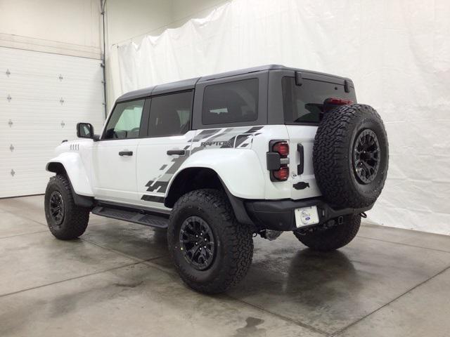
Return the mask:
<path id="1" fill-rule="evenodd" d="M 160 95 L 163 93 L 169 93 L 172 91 L 183 91 L 195 88 L 195 84 L 198 82 L 210 81 L 212 79 L 222 79 L 225 77 L 232 77 L 237 75 L 248 74 L 250 72 L 264 72 L 269 70 L 293 70 L 295 72 L 309 73 L 309 74 L 317 74 L 324 77 L 333 77 L 334 79 L 340 79 L 342 81 L 347 80 L 351 83 L 352 80 L 346 77 L 335 76 L 331 74 L 326 74 L 323 72 L 314 72 L 311 70 L 304 70 L 293 67 L 285 67 L 284 65 L 261 65 L 259 67 L 250 67 L 240 70 L 232 70 L 231 72 L 221 72 L 219 74 L 207 75 L 203 77 L 195 77 L 193 79 L 183 79 L 181 81 L 170 82 L 166 84 L 158 84 L 156 86 L 150 86 L 148 88 L 142 88 L 135 91 L 130 91 L 129 93 L 124 93 L 119 98 L 117 98 L 116 102 L 124 102 L 126 100 L 134 100 L 136 98 L 145 98 L 150 95 Z"/>

